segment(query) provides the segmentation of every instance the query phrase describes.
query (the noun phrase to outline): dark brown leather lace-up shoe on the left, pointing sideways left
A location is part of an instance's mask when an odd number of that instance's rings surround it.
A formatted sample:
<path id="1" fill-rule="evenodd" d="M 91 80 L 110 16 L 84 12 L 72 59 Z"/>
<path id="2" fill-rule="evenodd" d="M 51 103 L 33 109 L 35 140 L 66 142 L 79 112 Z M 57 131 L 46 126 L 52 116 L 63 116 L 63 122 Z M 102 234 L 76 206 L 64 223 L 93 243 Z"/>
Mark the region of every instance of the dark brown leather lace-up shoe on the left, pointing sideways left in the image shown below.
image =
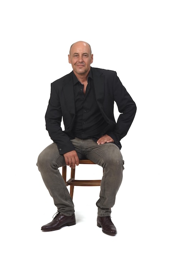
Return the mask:
<path id="1" fill-rule="evenodd" d="M 51 222 L 42 226 L 42 231 L 54 231 L 61 229 L 65 226 L 72 226 L 75 225 L 75 214 L 71 216 L 65 216 L 62 213 L 57 213 L 56 216 L 53 218 Z"/>

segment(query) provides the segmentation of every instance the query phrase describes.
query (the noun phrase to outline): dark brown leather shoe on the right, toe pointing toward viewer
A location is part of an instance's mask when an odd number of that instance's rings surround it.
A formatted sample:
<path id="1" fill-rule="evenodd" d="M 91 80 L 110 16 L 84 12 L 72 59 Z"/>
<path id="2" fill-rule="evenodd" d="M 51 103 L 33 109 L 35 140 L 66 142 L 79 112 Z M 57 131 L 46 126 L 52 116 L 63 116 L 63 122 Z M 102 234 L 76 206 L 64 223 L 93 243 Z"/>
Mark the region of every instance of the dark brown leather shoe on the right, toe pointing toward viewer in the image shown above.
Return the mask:
<path id="1" fill-rule="evenodd" d="M 103 233 L 109 236 L 115 236 L 117 234 L 116 227 L 111 221 L 110 216 L 106 216 L 106 217 L 97 216 L 97 227 L 102 227 Z"/>

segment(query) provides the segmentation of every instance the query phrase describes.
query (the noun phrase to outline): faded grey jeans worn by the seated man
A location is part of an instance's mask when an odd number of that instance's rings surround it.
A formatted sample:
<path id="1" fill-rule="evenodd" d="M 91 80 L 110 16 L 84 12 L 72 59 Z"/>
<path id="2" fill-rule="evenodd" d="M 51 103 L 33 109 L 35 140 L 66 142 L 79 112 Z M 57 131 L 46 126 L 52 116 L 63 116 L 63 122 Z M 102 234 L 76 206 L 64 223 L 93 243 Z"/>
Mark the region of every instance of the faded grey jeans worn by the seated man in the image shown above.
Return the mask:
<path id="1" fill-rule="evenodd" d="M 100 186 L 98 216 L 110 216 L 115 197 L 121 185 L 124 160 L 119 148 L 113 143 L 98 145 L 93 139 L 71 140 L 79 159 L 87 158 L 104 168 Z M 74 204 L 63 177 L 58 170 L 66 165 L 63 155 L 59 154 L 55 143 L 46 147 L 38 157 L 38 169 L 58 211 L 66 216 L 74 213 Z"/>

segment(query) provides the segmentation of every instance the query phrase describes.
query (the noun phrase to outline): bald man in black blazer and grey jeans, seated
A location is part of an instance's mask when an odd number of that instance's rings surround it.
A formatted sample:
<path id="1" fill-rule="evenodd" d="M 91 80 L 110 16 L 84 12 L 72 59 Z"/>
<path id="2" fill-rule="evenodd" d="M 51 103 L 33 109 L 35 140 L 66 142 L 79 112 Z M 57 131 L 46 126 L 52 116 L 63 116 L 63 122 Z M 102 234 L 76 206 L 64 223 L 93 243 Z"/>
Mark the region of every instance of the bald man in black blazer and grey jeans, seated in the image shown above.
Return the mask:
<path id="1" fill-rule="evenodd" d="M 58 168 L 75 168 L 79 159 L 87 158 L 104 168 L 96 203 L 97 226 L 105 234 L 115 236 L 117 230 L 110 214 L 124 170 L 120 140 L 132 124 L 136 105 L 115 71 L 91 67 L 93 54 L 88 43 L 79 41 L 71 45 L 68 62 L 73 71 L 51 84 L 45 115 L 53 144 L 38 157 L 39 171 L 58 211 L 41 229 L 53 231 L 75 225 L 74 204 Z M 117 123 L 114 101 L 121 113 Z"/>

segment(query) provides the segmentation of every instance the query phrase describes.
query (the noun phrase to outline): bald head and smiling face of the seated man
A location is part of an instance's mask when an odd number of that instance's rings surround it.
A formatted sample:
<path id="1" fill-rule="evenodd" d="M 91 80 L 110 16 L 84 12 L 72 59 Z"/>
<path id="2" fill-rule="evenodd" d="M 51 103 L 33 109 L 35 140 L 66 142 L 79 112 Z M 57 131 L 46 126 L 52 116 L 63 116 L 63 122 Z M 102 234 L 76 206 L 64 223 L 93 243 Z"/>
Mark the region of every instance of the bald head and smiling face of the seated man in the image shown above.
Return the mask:
<path id="1" fill-rule="evenodd" d="M 68 62 L 71 63 L 75 75 L 88 74 L 93 63 L 93 54 L 89 45 L 84 42 L 75 43 L 68 54 Z"/>

